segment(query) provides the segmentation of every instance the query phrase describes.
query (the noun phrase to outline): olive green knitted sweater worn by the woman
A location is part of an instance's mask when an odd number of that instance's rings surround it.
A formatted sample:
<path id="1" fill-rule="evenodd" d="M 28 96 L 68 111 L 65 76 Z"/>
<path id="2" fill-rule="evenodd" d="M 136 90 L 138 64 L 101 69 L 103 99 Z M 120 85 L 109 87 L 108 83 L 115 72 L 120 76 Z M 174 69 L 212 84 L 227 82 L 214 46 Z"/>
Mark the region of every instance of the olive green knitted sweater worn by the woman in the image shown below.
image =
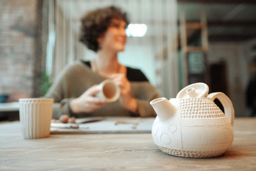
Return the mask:
<path id="1" fill-rule="evenodd" d="M 110 103 L 100 109 L 90 113 L 74 114 L 70 110 L 70 100 L 78 98 L 91 86 L 99 84 L 107 78 L 94 73 L 89 66 L 77 61 L 66 66 L 60 75 L 55 79 L 45 98 L 53 98 L 53 118 L 58 119 L 60 115 L 75 115 L 76 117 L 91 116 L 156 116 L 153 108 L 149 104 L 150 100 L 159 98 L 159 93 L 151 86 L 149 81 L 131 81 L 131 95 L 137 100 L 138 113 L 134 114 L 122 108 L 119 100 Z"/>

